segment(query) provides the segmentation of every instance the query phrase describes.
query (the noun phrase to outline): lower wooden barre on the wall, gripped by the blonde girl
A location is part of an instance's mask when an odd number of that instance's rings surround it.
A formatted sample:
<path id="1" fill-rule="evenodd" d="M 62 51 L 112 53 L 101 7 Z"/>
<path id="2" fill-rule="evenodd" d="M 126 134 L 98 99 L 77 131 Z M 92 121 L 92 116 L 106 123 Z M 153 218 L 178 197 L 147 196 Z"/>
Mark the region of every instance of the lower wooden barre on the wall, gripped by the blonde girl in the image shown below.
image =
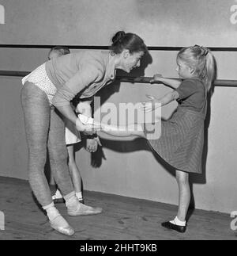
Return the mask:
<path id="1" fill-rule="evenodd" d="M 3 76 L 20 76 L 24 77 L 28 75 L 29 71 L 0 71 L 0 75 Z M 152 77 L 129 77 L 129 76 L 116 76 L 116 80 L 120 82 L 131 82 L 131 83 L 149 83 Z M 214 82 L 214 86 L 226 86 L 226 87 L 237 87 L 237 80 L 222 80 L 217 79 Z"/>

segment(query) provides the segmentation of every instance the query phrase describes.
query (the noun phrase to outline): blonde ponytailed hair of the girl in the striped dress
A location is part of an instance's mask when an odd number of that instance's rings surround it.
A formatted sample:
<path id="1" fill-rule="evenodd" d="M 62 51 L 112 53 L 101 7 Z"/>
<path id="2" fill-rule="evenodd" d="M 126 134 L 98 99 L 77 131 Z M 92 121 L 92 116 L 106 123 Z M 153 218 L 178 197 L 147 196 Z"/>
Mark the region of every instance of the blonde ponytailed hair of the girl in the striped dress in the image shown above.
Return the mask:
<path id="1" fill-rule="evenodd" d="M 177 58 L 194 69 L 194 75 L 201 78 L 207 91 L 212 88 L 216 79 L 216 61 L 213 53 L 208 48 L 199 45 L 182 48 Z"/>

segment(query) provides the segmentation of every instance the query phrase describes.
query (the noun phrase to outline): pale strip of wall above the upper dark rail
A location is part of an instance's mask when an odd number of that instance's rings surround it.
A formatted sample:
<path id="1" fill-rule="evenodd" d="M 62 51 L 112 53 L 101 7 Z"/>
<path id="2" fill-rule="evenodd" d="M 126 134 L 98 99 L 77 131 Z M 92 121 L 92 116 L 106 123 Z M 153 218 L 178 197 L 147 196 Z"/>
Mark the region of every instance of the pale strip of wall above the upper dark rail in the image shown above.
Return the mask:
<path id="1" fill-rule="evenodd" d="M 107 45 L 119 30 L 150 46 L 236 45 L 235 0 L 2 0 L 1 44 Z"/>

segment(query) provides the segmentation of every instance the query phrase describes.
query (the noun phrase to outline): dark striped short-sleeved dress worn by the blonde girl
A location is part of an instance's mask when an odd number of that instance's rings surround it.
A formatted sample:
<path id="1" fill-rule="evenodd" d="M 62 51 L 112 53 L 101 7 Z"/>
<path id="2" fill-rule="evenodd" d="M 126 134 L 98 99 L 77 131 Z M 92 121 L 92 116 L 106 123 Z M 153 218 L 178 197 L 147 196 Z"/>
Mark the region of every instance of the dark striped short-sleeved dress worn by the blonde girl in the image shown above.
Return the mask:
<path id="1" fill-rule="evenodd" d="M 159 139 L 149 139 L 149 144 L 158 155 L 177 170 L 201 174 L 201 158 L 204 144 L 204 122 L 207 109 L 207 94 L 198 78 L 188 79 L 186 84 L 197 86 L 190 96 L 182 101 L 171 119 L 161 121 Z M 182 84 L 179 86 L 182 88 Z M 179 88 L 177 89 L 179 92 Z M 180 96 L 180 94 L 179 94 Z M 192 108 L 190 97 L 202 98 L 200 109 Z M 190 105 L 186 104 L 190 101 Z M 197 103 L 197 102 L 196 102 Z"/>

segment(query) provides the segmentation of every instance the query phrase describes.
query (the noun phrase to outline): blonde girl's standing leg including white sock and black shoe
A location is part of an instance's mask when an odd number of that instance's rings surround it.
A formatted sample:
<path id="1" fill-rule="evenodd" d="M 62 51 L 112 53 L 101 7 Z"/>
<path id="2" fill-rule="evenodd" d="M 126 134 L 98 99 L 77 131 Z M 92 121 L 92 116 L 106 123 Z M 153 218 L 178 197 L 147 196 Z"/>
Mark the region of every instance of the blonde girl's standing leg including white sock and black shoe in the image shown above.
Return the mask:
<path id="1" fill-rule="evenodd" d="M 186 231 L 186 213 L 190 205 L 189 174 L 176 170 L 176 181 L 179 186 L 179 208 L 174 220 L 164 222 L 163 227 L 184 233 Z"/>

